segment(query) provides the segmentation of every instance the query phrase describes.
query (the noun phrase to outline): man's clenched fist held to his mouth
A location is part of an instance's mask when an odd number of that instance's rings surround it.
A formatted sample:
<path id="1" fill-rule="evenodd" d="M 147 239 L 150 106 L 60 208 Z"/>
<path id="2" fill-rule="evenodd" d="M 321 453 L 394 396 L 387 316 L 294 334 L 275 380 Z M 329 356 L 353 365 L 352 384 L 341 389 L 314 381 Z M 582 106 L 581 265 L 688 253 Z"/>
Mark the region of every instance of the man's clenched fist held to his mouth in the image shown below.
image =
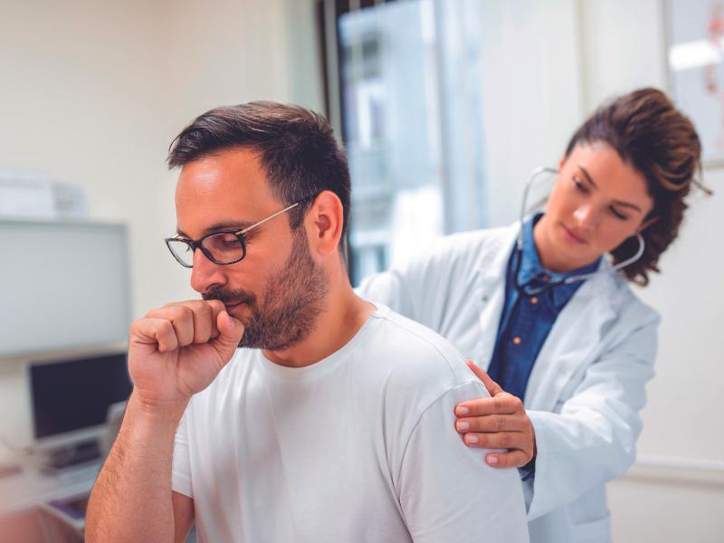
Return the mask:
<path id="1" fill-rule="evenodd" d="M 144 405 L 184 404 L 233 356 L 243 325 L 219 300 L 169 303 L 131 324 L 129 373 Z"/>

